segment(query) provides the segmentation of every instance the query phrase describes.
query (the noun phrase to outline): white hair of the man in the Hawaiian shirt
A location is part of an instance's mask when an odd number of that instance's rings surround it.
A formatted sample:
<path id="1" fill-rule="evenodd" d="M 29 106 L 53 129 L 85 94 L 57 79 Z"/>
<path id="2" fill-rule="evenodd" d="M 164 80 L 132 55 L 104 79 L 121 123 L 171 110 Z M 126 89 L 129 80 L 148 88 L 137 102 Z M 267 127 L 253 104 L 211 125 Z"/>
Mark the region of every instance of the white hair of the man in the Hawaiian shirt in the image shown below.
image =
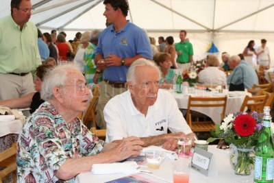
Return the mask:
<path id="1" fill-rule="evenodd" d="M 53 99 L 53 88 L 63 86 L 66 83 L 71 69 L 77 70 L 73 64 L 62 63 L 49 71 L 42 82 L 42 88 L 40 91 L 41 99 L 45 101 Z"/>

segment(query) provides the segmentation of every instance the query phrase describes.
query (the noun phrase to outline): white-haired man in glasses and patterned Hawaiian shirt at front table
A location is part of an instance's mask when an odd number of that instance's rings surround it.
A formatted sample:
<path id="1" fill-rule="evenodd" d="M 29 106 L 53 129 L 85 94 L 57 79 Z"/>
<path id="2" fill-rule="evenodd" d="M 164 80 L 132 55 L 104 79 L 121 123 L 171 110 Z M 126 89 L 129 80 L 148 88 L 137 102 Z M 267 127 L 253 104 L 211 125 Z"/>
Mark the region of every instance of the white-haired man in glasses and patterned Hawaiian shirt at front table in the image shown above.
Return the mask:
<path id="1" fill-rule="evenodd" d="M 41 90 L 45 103 L 27 119 L 18 137 L 18 182 L 73 182 L 92 164 L 140 154 L 139 138 L 106 144 L 77 118 L 88 106 L 85 84 L 84 75 L 73 66 L 60 65 L 47 74 Z"/>

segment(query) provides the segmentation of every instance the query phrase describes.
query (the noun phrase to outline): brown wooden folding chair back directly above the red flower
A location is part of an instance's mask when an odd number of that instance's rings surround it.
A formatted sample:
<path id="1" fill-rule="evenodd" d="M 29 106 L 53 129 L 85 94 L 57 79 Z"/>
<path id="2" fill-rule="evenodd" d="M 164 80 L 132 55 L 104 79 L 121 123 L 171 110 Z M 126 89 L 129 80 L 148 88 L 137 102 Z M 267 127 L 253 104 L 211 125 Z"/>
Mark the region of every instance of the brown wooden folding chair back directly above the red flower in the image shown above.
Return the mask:
<path id="1" fill-rule="evenodd" d="M 258 113 L 262 113 L 264 103 L 266 103 L 266 95 L 256 95 L 253 97 L 245 96 L 242 106 L 240 107 L 240 111 L 251 113 L 255 110 Z"/>

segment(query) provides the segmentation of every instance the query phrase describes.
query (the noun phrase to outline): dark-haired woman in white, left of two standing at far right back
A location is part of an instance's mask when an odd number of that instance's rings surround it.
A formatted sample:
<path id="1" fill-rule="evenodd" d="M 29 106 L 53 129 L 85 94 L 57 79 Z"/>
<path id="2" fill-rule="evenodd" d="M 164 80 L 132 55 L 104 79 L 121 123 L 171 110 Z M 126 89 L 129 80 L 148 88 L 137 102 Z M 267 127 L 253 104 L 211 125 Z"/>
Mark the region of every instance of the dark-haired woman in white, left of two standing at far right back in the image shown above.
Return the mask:
<path id="1" fill-rule="evenodd" d="M 245 47 L 242 55 L 245 56 L 245 62 L 251 64 L 251 66 L 256 66 L 257 64 L 257 53 L 253 48 L 255 45 L 254 40 L 249 40 L 247 47 Z"/>

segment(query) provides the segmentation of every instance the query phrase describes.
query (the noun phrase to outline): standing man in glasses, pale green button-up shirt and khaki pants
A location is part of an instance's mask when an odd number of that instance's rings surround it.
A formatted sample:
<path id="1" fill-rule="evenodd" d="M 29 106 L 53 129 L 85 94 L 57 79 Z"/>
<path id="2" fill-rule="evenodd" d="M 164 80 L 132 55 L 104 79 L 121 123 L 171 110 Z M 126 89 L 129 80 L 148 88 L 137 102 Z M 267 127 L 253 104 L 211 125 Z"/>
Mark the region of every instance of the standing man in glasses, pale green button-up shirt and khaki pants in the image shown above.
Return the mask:
<path id="1" fill-rule="evenodd" d="M 31 71 L 41 63 L 37 27 L 30 23 L 30 0 L 12 0 L 11 15 L 0 19 L 0 100 L 34 91 Z"/>

